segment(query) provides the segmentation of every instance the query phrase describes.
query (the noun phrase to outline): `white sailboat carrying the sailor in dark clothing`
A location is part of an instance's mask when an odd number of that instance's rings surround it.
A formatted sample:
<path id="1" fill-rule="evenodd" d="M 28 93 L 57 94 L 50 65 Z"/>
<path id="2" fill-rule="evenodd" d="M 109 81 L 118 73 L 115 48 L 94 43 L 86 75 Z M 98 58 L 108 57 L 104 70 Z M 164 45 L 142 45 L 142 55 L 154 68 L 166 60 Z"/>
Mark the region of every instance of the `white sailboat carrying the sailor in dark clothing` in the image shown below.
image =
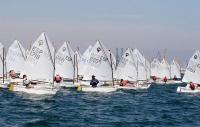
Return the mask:
<path id="1" fill-rule="evenodd" d="M 86 92 L 113 92 L 117 88 L 114 87 L 113 80 L 113 67 L 112 67 L 112 58 L 108 58 L 108 52 L 102 46 L 100 41 L 97 41 L 96 44 L 92 47 L 91 52 L 89 53 L 89 59 L 87 61 L 87 66 L 84 70 L 83 80 L 80 81 L 82 91 Z M 91 87 L 89 82 L 92 75 L 95 75 L 100 81 L 98 87 Z M 108 83 L 109 82 L 109 83 Z M 108 86 L 101 86 L 108 85 Z"/>

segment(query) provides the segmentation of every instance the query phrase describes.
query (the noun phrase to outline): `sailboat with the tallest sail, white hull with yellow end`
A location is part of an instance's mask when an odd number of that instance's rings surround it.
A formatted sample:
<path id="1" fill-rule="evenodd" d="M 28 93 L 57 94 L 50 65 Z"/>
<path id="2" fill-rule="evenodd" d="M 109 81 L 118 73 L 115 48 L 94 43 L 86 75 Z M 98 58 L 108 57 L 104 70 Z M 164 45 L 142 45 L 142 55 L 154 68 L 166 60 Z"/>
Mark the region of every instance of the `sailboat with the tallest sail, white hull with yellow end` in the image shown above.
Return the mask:
<path id="1" fill-rule="evenodd" d="M 33 43 L 25 62 L 25 71 L 30 81 L 36 85 L 27 88 L 23 84 L 11 85 L 11 91 L 30 94 L 56 94 L 54 86 L 55 50 L 45 33 Z"/>

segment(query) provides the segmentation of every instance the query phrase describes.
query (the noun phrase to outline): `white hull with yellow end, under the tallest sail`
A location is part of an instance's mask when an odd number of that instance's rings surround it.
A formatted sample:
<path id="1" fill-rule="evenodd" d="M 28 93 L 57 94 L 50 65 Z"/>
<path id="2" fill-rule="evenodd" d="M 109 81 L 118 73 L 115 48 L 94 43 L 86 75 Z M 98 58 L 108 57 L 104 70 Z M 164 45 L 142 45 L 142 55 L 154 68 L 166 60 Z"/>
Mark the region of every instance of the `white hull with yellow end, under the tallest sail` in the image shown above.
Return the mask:
<path id="1" fill-rule="evenodd" d="M 15 92 L 24 92 L 28 94 L 37 94 L 37 95 L 44 95 L 44 94 L 52 95 L 56 94 L 56 92 L 58 91 L 58 89 L 53 87 L 50 88 L 50 87 L 34 86 L 33 88 L 26 88 L 25 86 L 22 85 L 14 85 L 13 88 L 10 90 Z"/>

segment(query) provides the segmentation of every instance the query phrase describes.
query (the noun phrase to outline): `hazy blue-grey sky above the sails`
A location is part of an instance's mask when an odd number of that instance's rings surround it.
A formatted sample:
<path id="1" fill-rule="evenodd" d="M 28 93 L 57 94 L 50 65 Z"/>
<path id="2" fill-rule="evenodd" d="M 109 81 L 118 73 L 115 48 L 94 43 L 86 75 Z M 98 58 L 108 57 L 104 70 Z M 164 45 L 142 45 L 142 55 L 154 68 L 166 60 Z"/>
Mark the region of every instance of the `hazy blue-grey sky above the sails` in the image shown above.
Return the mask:
<path id="1" fill-rule="evenodd" d="M 25 48 L 41 32 L 59 48 L 70 41 L 83 52 L 96 40 L 138 48 L 151 59 L 167 49 L 182 64 L 200 49 L 199 0 L 0 0 L 0 42 Z"/>

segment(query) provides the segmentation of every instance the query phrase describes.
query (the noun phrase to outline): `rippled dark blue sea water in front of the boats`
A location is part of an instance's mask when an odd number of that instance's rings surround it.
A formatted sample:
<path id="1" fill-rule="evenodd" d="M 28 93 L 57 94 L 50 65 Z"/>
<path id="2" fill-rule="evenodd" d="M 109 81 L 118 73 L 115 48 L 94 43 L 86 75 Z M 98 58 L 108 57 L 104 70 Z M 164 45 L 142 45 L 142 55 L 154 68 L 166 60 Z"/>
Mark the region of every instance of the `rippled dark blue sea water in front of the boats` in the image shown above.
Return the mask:
<path id="1" fill-rule="evenodd" d="M 200 94 L 176 93 L 177 86 L 40 97 L 1 89 L 0 127 L 200 126 Z"/>

